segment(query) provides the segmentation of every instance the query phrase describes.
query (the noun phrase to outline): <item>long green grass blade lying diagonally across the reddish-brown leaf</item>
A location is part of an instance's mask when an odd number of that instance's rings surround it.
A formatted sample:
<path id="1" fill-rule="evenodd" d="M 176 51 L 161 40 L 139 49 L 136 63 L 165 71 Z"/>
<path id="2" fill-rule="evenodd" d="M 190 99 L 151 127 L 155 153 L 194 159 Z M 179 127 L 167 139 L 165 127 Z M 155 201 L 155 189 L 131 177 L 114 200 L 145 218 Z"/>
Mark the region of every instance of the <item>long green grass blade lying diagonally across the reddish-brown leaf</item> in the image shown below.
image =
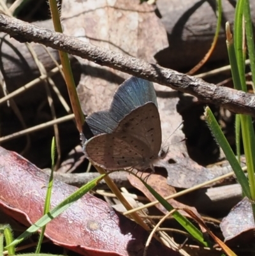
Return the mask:
<path id="1" fill-rule="evenodd" d="M 18 243 L 22 242 L 26 237 L 31 236 L 34 232 L 36 232 L 41 227 L 45 226 L 47 223 L 49 223 L 51 220 L 59 216 L 63 211 L 68 209 L 72 204 L 74 204 L 78 199 L 80 199 L 85 193 L 89 192 L 96 186 L 101 179 L 105 177 L 106 174 L 103 174 L 99 177 L 96 177 L 92 181 L 89 181 L 89 183 L 85 184 L 81 188 L 79 188 L 76 192 L 69 195 L 65 200 L 63 200 L 59 205 L 55 206 L 51 211 L 49 211 L 46 215 L 43 215 L 40 220 L 38 220 L 34 225 L 29 227 L 27 230 L 25 230 L 24 233 L 22 233 L 15 241 L 11 243 L 9 246 L 17 245 Z M 7 247 L 7 246 L 6 246 Z"/>

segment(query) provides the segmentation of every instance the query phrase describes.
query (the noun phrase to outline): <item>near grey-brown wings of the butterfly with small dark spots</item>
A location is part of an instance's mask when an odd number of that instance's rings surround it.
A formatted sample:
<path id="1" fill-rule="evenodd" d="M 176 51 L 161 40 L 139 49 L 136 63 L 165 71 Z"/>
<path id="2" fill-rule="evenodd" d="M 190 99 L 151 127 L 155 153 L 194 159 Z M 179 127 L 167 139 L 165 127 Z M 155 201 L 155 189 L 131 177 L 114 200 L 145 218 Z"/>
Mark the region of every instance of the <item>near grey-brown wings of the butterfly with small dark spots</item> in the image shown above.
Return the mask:
<path id="1" fill-rule="evenodd" d="M 158 157 L 160 147 L 159 112 L 149 102 L 126 115 L 113 133 L 88 140 L 85 155 L 92 163 L 108 170 L 147 169 Z"/>

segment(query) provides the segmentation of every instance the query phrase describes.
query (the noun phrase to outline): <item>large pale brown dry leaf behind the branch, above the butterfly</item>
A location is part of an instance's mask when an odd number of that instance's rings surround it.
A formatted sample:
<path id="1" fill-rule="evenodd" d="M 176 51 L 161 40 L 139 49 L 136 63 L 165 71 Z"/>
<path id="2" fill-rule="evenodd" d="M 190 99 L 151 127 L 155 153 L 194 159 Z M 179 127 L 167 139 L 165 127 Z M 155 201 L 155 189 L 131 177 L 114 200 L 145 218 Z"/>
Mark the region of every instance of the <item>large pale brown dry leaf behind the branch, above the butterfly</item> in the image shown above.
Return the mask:
<path id="1" fill-rule="evenodd" d="M 166 31 L 154 6 L 132 1 L 63 1 L 64 33 L 94 45 L 155 63 L 168 46 Z M 129 75 L 80 59 L 83 75 L 78 94 L 85 114 L 107 109 L 112 94 Z"/>

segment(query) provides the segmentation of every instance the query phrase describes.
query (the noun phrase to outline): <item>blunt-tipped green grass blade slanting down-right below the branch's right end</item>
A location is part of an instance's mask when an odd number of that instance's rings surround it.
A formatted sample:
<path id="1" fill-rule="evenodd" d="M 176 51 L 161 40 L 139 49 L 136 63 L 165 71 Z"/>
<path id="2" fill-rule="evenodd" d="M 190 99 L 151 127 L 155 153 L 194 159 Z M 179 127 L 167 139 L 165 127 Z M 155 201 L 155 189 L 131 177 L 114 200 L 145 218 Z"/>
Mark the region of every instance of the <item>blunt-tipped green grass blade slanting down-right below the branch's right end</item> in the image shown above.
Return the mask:
<path id="1" fill-rule="evenodd" d="M 219 124 L 217 123 L 209 107 L 206 107 L 205 109 L 205 118 L 207 119 L 207 123 L 210 127 L 210 130 L 212 131 L 212 134 L 217 140 L 219 146 L 222 148 L 222 151 L 224 152 L 228 162 L 230 162 L 230 165 L 235 172 L 235 175 L 237 176 L 237 180 L 242 186 L 243 193 L 250 199 L 251 193 L 249 190 L 247 177 L 245 176 L 244 171 L 242 170 L 240 164 L 237 161 L 237 158 L 235 157 L 235 154 L 230 147 L 230 144 L 228 144 L 228 140 L 226 140 L 226 137 L 222 133 L 222 130 L 219 127 Z"/>

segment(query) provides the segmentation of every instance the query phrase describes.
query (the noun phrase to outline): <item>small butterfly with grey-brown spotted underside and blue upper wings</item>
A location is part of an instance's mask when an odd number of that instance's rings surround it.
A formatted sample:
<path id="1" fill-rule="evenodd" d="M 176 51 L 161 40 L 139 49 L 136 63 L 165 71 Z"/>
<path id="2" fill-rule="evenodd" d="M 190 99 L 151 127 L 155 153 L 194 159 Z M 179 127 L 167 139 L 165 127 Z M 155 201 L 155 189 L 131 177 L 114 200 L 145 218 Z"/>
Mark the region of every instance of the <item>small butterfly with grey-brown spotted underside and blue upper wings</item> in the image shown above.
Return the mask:
<path id="1" fill-rule="evenodd" d="M 154 170 L 161 150 L 161 121 L 152 82 L 131 77 L 119 86 L 109 110 L 86 119 L 95 135 L 84 144 L 92 164 L 107 170 Z"/>

